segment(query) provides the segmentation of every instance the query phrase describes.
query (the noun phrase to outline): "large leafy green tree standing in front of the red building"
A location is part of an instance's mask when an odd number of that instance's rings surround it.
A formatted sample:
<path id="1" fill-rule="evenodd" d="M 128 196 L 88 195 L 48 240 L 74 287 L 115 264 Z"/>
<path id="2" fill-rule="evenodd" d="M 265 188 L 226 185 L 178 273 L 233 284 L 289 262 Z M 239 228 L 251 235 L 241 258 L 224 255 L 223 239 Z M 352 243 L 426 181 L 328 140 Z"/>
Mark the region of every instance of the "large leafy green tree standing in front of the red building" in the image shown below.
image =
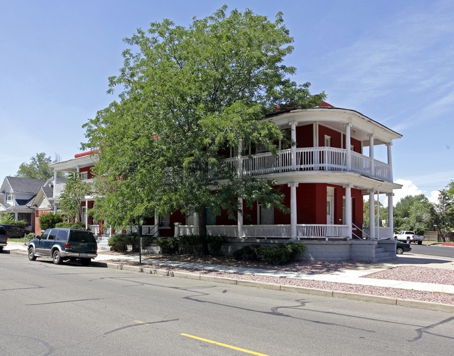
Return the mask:
<path id="1" fill-rule="evenodd" d="M 187 28 L 154 22 L 126 42 L 124 68 L 110 78 L 119 101 L 85 124 L 85 147 L 101 149 L 96 174 L 108 187 L 101 200 L 119 199 L 115 208 L 103 204 L 105 218 L 196 211 L 204 234 L 207 209 L 233 216 L 237 197 L 281 206 L 271 181 L 238 176 L 221 152 L 240 145 L 244 154 L 254 146 L 275 152 L 283 132 L 263 117 L 324 98 L 290 79 L 295 68 L 283 62 L 293 38 L 282 14 L 272 22 L 224 6 Z"/>

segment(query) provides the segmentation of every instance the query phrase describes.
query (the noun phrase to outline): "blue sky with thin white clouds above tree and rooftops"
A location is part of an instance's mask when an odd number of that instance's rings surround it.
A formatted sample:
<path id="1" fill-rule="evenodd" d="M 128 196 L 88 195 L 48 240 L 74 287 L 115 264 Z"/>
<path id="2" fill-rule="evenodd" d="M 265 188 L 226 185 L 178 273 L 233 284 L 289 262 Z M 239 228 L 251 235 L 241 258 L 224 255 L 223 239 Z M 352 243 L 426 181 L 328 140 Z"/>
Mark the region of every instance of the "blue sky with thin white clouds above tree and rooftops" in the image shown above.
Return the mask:
<path id="1" fill-rule="evenodd" d="M 0 180 L 44 152 L 69 160 L 82 125 L 108 106 L 123 38 L 170 18 L 187 26 L 224 3 L 284 13 L 294 38 L 286 64 L 312 93 L 403 134 L 394 180 L 426 194 L 454 180 L 454 1 L 0 0 Z"/>

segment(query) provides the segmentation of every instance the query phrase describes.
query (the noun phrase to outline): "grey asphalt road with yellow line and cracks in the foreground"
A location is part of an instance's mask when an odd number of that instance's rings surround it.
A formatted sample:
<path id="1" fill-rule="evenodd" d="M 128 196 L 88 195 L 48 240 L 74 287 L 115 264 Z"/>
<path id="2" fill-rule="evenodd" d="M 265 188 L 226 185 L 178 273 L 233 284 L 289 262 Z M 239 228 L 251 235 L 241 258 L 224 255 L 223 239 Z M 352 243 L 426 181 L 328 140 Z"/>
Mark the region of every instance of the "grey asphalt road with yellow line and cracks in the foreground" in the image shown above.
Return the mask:
<path id="1" fill-rule="evenodd" d="M 454 315 L 0 254 L 0 355 L 451 355 Z"/>

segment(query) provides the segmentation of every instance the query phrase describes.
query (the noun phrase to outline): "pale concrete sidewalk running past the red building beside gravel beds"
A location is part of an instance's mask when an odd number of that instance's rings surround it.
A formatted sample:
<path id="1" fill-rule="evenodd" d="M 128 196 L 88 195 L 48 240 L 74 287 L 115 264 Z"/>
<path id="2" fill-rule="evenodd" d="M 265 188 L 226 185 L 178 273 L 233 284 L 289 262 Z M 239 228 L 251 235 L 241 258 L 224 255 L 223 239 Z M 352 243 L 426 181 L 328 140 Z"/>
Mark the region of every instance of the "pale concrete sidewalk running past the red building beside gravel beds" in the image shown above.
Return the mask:
<path id="1" fill-rule="evenodd" d="M 17 251 L 23 254 L 27 254 L 27 247 L 18 242 L 8 242 L 8 245 L 4 247 L 6 251 Z M 94 259 L 95 262 L 110 261 L 121 264 L 124 262 L 139 262 L 138 254 L 118 255 L 108 254 L 103 252 L 98 254 Z M 225 265 L 209 265 L 203 263 L 186 263 L 181 261 L 161 261 L 159 259 L 152 258 L 152 255 L 142 255 L 142 267 L 146 268 L 147 264 L 158 265 L 159 267 L 173 267 L 173 268 L 191 268 L 193 270 L 206 270 L 206 271 L 218 271 L 227 272 L 232 275 L 234 274 L 256 274 L 269 277 L 286 277 L 293 279 L 307 279 L 311 281 L 328 281 L 345 284 L 358 284 L 363 286 L 378 286 L 387 288 L 401 288 L 411 291 L 426 291 L 434 293 L 448 293 L 454 295 L 454 286 L 448 284 L 431 284 L 422 282 L 411 282 L 411 281 L 398 281 L 392 279 L 374 279 L 367 278 L 368 274 L 374 272 L 380 272 L 389 268 L 395 268 L 403 265 L 416 265 L 418 267 L 431 267 L 441 268 L 446 270 L 454 270 L 454 258 L 441 258 L 433 256 L 425 256 L 418 254 L 403 254 L 397 256 L 396 260 L 390 263 L 374 263 L 366 265 L 365 267 L 359 267 L 354 269 L 338 270 L 332 273 L 314 274 L 314 273 L 300 273 L 300 272 L 287 272 L 281 270 L 263 270 L 258 268 L 240 268 Z M 115 266 L 114 266 L 115 267 Z M 451 307 L 451 311 L 454 312 L 454 305 Z M 449 309 L 449 308 L 448 308 Z"/>

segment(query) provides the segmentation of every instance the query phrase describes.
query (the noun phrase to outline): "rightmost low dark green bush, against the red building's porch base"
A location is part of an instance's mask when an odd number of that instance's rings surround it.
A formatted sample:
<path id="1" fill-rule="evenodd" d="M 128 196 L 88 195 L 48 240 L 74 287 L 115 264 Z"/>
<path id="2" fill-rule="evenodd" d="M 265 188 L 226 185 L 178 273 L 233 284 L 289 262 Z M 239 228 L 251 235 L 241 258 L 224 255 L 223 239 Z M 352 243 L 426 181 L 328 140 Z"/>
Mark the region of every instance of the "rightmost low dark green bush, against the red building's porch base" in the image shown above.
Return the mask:
<path id="1" fill-rule="evenodd" d="M 272 265 L 284 265 L 297 261 L 306 251 L 302 243 L 285 242 L 275 246 L 247 245 L 233 252 L 233 257 L 242 261 L 263 261 Z"/>

